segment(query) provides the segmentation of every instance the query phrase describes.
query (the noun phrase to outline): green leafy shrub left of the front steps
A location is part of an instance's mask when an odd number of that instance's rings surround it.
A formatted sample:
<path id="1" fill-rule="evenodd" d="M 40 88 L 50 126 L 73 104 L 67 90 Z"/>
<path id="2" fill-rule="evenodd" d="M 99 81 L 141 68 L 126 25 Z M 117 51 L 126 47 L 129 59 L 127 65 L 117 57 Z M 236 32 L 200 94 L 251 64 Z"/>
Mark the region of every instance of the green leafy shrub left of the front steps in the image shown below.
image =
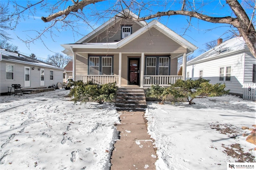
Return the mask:
<path id="1" fill-rule="evenodd" d="M 72 84 L 74 88 L 70 90 L 70 96 L 74 97 L 75 103 L 81 101 L 81 104 L 90 99 L 100 104 L 104 101 L 112 101 L 117 90 L 116 82 L 100 85 L 91 81 L 83 83 L 82 80 L 78 80 Z"/>

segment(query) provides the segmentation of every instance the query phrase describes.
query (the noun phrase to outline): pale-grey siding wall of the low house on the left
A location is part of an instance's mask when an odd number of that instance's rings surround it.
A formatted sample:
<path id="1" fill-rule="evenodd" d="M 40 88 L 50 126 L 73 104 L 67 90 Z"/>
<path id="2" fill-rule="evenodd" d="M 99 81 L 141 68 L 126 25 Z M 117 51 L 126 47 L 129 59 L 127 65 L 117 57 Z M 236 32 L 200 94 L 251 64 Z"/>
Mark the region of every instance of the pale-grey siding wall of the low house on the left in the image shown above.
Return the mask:
<path id="1" fill-rule="evenodd" d="M 6 63 L 14 64 L 14 80 L 6 80 Z M 38 70 L 39 66 L 14 63 L 9 61 L 0 62 L 0 93 L 8 92 L 8 86 L 12 84 L 20 84 L 24 87 L 24 67 L 30 67 L 30 87 L 26 88 L 38 88 L 40 87 L 40 71 Z M 34 66 L 34 70 L 31 67 Z M 41 68 L 44 68 L 41 66 Z M 57 84 L 58 82 L 62 83 L 63 71 L 52 68 L 44 68 L 45 70 L 45 87 L 52 86 L 52 84 Z M 54 80 L 50 80 L 50 70 L 54 70 Z"/>

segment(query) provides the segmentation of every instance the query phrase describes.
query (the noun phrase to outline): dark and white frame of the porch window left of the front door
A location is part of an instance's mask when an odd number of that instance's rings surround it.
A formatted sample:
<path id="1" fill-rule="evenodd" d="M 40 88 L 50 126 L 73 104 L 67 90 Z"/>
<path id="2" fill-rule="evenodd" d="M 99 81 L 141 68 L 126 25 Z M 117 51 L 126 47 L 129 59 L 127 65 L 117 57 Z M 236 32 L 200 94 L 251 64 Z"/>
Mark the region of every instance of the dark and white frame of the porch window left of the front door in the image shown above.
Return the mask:
<path id="1" fill-rule="evenodd" d="M 90 74 L 90 67 L 91 67 L 91 63 L 90 63 L 90 58 L 91 57 L 96 57 L 99 59 L 99 63 L 98 63 L 98 74 Z M 111 58 L 111 74 L 102 74 L 102 58 Z M 114 55 L 88 55 L 88 75 L 114 75 Z"/>

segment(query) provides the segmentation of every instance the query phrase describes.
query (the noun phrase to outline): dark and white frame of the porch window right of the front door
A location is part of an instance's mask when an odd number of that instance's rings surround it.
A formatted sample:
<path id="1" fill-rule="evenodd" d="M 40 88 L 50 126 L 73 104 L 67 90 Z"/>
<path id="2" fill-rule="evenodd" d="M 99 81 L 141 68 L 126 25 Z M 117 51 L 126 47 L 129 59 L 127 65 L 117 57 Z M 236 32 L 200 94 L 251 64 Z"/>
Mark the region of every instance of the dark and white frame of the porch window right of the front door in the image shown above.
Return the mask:
<path id="1" fill-rule="evenodd" d="M 156 58 L 156 68 L 155 68 L 155 74 L 154 75 L 148 75 L 147 74 L 147 67 L 154 67 L 154 66 L 147 66 L 148 64 L 148 59 L 149 58 Z M 163 66 L 159 66 L 160 63 L 160 58 L 168 58 L 168 74 L 167 75 L 159 75 L 159 68 L 163 67 Z M 144 75 L 145 76 L 169 76 L 170 75 L 170 68 L 171 68 L 171 60 L 170 60 L 170 56 L 168 55 L 147 55 L 145 56 L 145 64 L 144 64 Z M 164 66 L 167 67 L 167 66 Z"/>

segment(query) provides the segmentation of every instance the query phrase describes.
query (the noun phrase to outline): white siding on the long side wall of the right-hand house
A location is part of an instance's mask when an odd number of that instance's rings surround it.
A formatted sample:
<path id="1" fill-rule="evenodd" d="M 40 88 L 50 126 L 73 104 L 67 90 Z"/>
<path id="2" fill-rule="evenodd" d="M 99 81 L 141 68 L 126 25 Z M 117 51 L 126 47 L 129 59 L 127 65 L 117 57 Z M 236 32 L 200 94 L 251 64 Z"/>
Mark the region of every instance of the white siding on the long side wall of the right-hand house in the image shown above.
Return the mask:
<path id="1" fill-rule="evenodd" d="M 231 81 L 219 81 L 220 67 L 231 66 Z M 192 71 L 192 68 L 194 70 Z M 210 80 L 210 83 L 225 83 L 226 90 L 230 90 L 233 94 L 243 94 L 242 85 L 244 83 L 244 53 L 237 53 L 219 57 L 195 64 L 187 65 L 187 73 L 192 79 L 199 78 L 199 71 L 203 70 L 203 78 Z M 225 70 L 226 71 L 226 70 Z"/>

